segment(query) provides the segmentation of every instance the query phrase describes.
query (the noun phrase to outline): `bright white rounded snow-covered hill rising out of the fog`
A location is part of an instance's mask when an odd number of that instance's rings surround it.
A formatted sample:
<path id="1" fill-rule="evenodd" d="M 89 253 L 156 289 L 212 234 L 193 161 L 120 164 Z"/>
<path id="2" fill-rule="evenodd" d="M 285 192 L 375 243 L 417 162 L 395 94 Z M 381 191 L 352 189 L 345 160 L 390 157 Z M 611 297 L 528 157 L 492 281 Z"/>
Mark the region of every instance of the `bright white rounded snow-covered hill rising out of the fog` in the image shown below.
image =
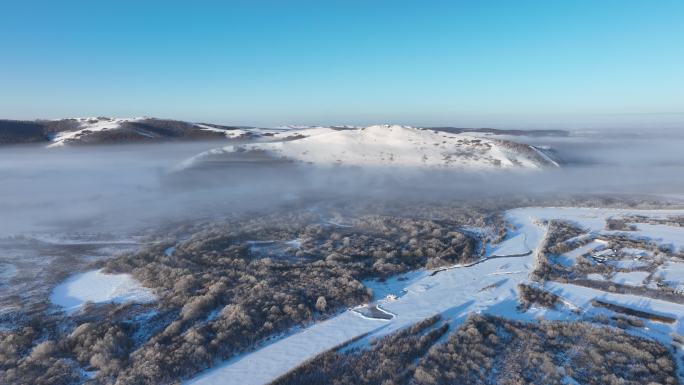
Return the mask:
<path id="1" fill-rule="evenodd" d="M 547 154 L 526 144 L 398 125 L 289 129 L 271 134 L 268 141 L 201 154 L 195 161 L 255 152 L 317 165 L 459 169 L 558 166 Z"/>

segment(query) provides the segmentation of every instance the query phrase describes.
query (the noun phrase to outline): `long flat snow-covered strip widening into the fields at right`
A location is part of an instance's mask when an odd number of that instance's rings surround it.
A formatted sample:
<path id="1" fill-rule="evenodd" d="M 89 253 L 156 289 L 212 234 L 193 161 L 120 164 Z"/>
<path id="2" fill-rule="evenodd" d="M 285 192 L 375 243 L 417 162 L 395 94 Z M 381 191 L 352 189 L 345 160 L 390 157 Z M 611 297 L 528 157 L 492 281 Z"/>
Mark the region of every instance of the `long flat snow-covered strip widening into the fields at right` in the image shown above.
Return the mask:
<path id="1" fill-rule="evenodd" d="M 435 314 L 442 314 L 458 324 L 468 314 L 484 312 L 512 319 L 532 320 L 545 315 L 554 319 L 574 319 L 570 312 L 532 309 L 527 313 L 517 310 L 519 283 L 528 282 L 534 269 L 538 248 L 546 234 L 545 221 L 562 219 L 576 223 L 588 232 L 605 233 L 607 218 L 638 213 L 652 217 L 682 215 L 683 211 L 619 210 L 585 208 L 522 208 L 506 213 L 506 219 L 515 226 L 507 239 L 487 251 L 487 256 L 515 255 L 510 258 L 487 259 L 472 266 L 455 266 L 430 275 L 418 271 L 404 275 L 405 279 L 390 280 L 386 284 L 367 282 L 376 292 L 375 302 L 394 315 L 390 320 L 363 317 L 349 310 L 325 322 L 314 324 L 301 332 L 280 339 L 255 352 L 246 353 L 211 369 L 187 384 L 265 384 L 328 349 L 335 348 L 354 338 L 377 337 L 412 325 Z M 665 239 L 681 244 L 671 231 L 654 227 L 640 227 L 633 235 L 650 239 Z M 676 232 L 675 232 L 676 233 Z M 664 237 L 669 234 L 669 237 Z M 527 255 L 522 255 L 528 252 Z M 624 273 L 613 279 L 638 283 L 645 279 L 644 272 Z M 675 274 L 679 278 L 678 274 Z M 592 277 L 603 279 L 600 275 Z M 647 322 L 645 332 L 657 333 L 655 338 L 669 341 L 672 332 L 681 333 L 684 327 L 684 305 L 637 295 L 608 293 L 601 290 L 558 282 L 546 282 L 543 289 L 561 297 L 570 309 L 589 309 L 594 299 L 654 312 L 676 319 L 671 325 L 654 325 Z M 388 294 L 395 294 L 387 297 Z M 601 309 L 600 311 L 605 311 Z M 368 336 L 366 336 L 368 335 Z M 650 335 L 650 334 L 649 334 Z"/>

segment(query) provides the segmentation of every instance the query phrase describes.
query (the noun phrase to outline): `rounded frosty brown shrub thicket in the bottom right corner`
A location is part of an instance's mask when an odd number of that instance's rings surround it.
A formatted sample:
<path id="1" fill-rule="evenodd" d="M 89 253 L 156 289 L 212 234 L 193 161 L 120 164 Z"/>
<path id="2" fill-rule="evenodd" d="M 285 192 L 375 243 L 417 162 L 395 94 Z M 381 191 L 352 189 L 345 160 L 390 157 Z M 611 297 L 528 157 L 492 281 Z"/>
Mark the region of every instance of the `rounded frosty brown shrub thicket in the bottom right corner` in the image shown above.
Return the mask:
<path id="1" fill-rule="evenodd" d="M 475 315 L 420 360 L 412 384 L 678 384 L 655 341 L 586 322 L 522 323 Z"/>

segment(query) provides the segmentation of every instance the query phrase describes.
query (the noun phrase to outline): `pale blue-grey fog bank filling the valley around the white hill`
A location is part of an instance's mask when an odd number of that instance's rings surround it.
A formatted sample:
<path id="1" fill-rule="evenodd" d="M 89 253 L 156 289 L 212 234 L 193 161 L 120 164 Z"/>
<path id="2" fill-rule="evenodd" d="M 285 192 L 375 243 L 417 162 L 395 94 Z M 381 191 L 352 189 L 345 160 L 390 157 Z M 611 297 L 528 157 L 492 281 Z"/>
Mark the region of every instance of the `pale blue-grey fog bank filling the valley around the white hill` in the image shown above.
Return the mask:
<path id="1" fill-rule="evenodd" d="M 41 233 L 135 232 L 168 219 L 268 209 L 327 197 L 479 198 L 511 193 L 684 193 L 684 135 L 511 137 L 556 150 L 560 169 L 525 172 L 256 169 L 232 165 L 176 171 L 221 143 L 0 150 L 0 237 Z"/>

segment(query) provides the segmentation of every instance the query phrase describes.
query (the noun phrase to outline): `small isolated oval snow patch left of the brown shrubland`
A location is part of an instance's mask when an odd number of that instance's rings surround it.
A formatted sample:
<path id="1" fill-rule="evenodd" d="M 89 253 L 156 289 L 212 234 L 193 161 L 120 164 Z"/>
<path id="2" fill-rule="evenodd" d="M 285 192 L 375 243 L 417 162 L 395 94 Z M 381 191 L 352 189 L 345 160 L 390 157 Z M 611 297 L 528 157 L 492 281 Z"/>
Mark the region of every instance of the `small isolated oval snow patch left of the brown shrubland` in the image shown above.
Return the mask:
<path id="1" fill-rule="evenodd" d="M 105 274 L 93 270 L 76 274 L 57 285 L 50 301 L 67 313 L 73 313 L 86 302 L 149 303 L 156 297 L 128 274 Z"/>

